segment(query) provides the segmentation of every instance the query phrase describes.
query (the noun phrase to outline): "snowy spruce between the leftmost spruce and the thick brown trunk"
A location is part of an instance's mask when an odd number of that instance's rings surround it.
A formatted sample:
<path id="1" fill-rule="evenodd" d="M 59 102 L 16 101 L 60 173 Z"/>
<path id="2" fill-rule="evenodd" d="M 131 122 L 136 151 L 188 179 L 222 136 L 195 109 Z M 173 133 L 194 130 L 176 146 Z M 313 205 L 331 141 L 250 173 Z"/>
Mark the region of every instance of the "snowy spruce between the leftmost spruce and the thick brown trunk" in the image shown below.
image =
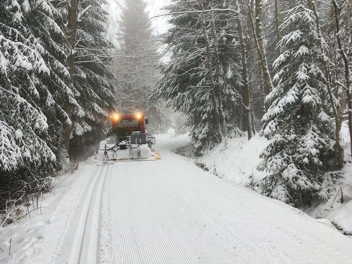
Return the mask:
<path id="1" fill-rule="evenodd" d="M 43 75 L 40 78 L 42 83 L 38 90 L 43 90 L 44 96 L 40 97 L 45 99 L 42 100 L 40 109 L 48 119 L 48 132 L 53 139 L 47 143 L 54 151 L 58 164 L 61 164 L 62 161 L 59 158 L 63 156 L 61 152 L 64 151 L 63 124 L 71 124 L 68 113 L 63 109 L 64 105 L 71 105 L 73 112 L 83 111 L 65 83 L 69 72 L 64 66 L 67 57 L 61 14 L 49 0 L 30 0 L 28 3 L 29 8 L 23 24 L 28 29 L 32 43 L 42 47 L 39 52 L 50 70 L 49 75 Z"/>

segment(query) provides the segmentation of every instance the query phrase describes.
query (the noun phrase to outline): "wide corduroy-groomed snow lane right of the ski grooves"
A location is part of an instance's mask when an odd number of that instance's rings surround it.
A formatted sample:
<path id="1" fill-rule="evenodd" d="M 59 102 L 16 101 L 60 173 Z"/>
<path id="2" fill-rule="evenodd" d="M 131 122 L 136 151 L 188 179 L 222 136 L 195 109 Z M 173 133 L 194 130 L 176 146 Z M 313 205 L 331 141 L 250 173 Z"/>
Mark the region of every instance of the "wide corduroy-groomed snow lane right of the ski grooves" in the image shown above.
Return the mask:
<path id="1" fill-rule="evenodd" d="M 352 263 L 351 239 L 158 150 L 109 165 L 98 263 Z"/>

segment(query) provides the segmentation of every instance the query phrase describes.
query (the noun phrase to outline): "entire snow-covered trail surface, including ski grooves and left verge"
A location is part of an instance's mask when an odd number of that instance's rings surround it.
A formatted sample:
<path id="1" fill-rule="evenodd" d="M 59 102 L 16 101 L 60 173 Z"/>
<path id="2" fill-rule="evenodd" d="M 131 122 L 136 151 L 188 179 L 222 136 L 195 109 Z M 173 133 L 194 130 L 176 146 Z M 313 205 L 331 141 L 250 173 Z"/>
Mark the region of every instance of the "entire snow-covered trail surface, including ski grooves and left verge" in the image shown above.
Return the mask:
<path id="1" fill-rule="evenodd" d="M 159 161 L 82 165 L 0 262 L 352 263 L 351 238 L 196 167 L 171 152 L 180 138 L 157 137 Z"/>

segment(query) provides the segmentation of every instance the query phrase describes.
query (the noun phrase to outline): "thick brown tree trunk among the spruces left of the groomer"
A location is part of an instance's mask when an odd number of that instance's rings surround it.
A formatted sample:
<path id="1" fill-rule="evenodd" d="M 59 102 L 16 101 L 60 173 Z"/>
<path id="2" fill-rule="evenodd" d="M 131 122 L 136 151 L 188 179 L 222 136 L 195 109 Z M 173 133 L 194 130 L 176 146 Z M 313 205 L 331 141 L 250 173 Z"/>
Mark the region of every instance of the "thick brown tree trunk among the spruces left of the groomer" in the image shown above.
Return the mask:
<path id="1" fill-rule="evenodd" d="M 68 13 L 67 13 L 67 42 L 68 42 L 68 59 L 66 67 L 69 71 L 70 76 L 66 79 L 67 86 L 73 90 L 73 75 L 74 75 L 74 61 L 75 61 L 75 44 L 76 44 L 76 32 L 77 32 L 77 10 L 78 10 L 79 0 L 70 0 L 68 3 Z M 68 114 L 69 119 L 72 117 L 72 105 L 66 104 L 63 107 L 63 110 Z M 67 124 L 63 122 L 64 130 L 64 146 L 69 154 L 70 148 L 70 137 L 72 132 L 72 124 Z M 68 157 L 67 157 L 68 158 Z"/>

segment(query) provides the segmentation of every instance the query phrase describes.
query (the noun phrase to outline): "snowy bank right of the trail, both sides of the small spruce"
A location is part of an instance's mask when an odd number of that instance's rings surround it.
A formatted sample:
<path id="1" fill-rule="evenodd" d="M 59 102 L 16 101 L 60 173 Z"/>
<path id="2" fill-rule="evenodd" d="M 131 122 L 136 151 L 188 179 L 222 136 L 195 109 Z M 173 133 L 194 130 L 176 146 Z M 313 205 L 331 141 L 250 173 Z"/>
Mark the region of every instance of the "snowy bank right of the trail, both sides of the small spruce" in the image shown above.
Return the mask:
<path id="1" fill-rule="evenodd" d="M 345 146 L 345 159 L 348 159 L 350 142 L 346 123 L 342 126 L 341 138 Z M 202 161 L 209 171 L 216 170 L 218 177 L 260 192 L 260 181 L 268 174 L 256 168 L 261 160 L 260 152 L 267 144 L 268 140 L 258 134 L 251 140 L 247 137 L 231 138 L 226 147 L 223 144 L 216 146 L 202 157 Z M 327 202 L 307 210 L 307 213 L 314 218 L 326 218 L 352 234 L 352 164 L 346 163 L 341 171 L 344 172 L 344 179 L 337 183 L 336 193 Z"/>

